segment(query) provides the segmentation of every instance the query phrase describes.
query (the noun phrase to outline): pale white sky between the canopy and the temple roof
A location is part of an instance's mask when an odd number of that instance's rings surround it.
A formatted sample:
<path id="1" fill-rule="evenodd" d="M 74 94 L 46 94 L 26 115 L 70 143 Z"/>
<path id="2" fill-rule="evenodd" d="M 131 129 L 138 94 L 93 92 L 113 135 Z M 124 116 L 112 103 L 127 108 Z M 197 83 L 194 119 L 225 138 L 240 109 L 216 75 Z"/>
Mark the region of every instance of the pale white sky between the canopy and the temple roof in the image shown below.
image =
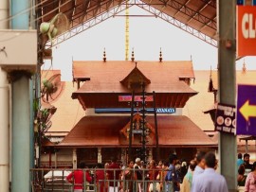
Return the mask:
<path id="1" fill-rule="evenodd" d="M 119 13 L 124 15 L 125 12 Z M 129 14 L 150 15 L 138 7 Z M 62 70 L 62 80 L 72 80 L 73 61 L 101 61 L 105 48 L 107 61 L 125 60 L 125 17 L 116 16 L 93 26 L 62 44 L 52 47 L 53 60 L 45 61 L 42 69 Z M 129 18 L 129 60 L 134 49 L 136 61 L 190 61 L 194 70 L 217 68 L 217 48 L 186 31 L 155 17 Z M 236 68 L 256 70 L 256 56 L 236 62 Z"/>

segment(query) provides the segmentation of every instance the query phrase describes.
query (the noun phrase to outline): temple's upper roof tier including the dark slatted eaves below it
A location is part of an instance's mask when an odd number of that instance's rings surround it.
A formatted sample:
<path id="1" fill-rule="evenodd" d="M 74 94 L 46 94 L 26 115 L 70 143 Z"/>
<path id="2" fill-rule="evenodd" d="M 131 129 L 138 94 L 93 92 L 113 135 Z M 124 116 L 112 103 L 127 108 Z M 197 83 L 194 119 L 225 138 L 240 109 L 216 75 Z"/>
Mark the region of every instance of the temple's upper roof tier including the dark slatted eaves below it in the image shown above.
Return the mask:
<path id="1" fill-rule="evenodd" d="M 132 90 L 121 81 L 135 68 L 133 61 L 73 61 L 73 78 L 86 80 L 72 94 L 86 108 L 127 108 L 128 102 L 119 102 L 119 96 L 131 96 Z M 194 79 L 192 61 L 137 61 L 137 69 L 150 83 L 145 92 L 153 95 L 157 108 L 182 108 L 197 94 L 186 83 Z M 182 76 L 182 79 L 180 79 Z M 138 90 L 137 96 L 141 96 Z M 147 107 L 153 107 L 148 102 Z"/>

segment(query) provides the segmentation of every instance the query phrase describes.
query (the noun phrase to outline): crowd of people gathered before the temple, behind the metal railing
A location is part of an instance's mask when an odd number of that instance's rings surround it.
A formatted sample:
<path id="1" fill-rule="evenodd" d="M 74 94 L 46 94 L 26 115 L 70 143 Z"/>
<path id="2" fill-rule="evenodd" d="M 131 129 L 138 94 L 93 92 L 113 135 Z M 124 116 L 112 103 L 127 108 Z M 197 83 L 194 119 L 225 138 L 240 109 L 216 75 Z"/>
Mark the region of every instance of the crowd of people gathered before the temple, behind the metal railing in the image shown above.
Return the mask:
<path id="1" fill-rule="evenodd" d="M 126 166 L 113 157 L 110 164 L 99 164 L 93 177 L 82 170 L 85 165 L 81 163 L 66 180 L 74 183 L 75 192 L 83 190 L 84 179 L 86 183 L 94 180 L 99 192 L 228 192 L 225 178 L 215 171 L 217 165 L 215 154 L 203 151 L 197 152 L 189 165 L 179 161 L 176 154 L 167 162 L 144 163 L 136 158 Z"/>

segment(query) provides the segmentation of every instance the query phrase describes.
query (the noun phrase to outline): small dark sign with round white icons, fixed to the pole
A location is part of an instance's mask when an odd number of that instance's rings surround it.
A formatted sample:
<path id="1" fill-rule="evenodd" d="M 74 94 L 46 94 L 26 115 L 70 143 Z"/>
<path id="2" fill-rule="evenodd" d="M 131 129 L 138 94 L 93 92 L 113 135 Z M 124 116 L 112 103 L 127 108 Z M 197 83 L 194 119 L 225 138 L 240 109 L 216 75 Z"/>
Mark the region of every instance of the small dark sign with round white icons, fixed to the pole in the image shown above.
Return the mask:
<path id="1" fill-rule="evenodd" d="M 215 119 L 215 131 L 235 132 L 235 107 L 218 104 Z"/>

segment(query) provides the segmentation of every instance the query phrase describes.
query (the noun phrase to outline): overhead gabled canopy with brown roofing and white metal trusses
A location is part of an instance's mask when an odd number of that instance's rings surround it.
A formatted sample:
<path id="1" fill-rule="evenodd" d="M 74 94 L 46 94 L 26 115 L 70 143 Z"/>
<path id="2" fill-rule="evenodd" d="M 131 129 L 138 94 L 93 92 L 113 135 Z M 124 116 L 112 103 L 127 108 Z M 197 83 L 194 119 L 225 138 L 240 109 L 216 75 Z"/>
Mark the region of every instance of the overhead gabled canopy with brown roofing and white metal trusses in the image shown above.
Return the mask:
<path id="1" fill-rule="evenodd" d="M 64 12 L 70 23 L 69 34 L 59 38 L 54 44 L 95 26 L 107 18 L 117 16 L 125 10 L 124 0 L 38 0 L 38 11 L 42 22 L 48 22 L 59 12 Z M 181 28 L 197 38 L 216 44 L 216 0 L 134 0 L 128 1 L 128 8 L 137 6 L 170 25 Z M 97 18 L 98 17 L 98 18 Z M 97 19 L 96 19 L 97 18 Z M 103 32 L 103 31 L 102 31 Z"/>

